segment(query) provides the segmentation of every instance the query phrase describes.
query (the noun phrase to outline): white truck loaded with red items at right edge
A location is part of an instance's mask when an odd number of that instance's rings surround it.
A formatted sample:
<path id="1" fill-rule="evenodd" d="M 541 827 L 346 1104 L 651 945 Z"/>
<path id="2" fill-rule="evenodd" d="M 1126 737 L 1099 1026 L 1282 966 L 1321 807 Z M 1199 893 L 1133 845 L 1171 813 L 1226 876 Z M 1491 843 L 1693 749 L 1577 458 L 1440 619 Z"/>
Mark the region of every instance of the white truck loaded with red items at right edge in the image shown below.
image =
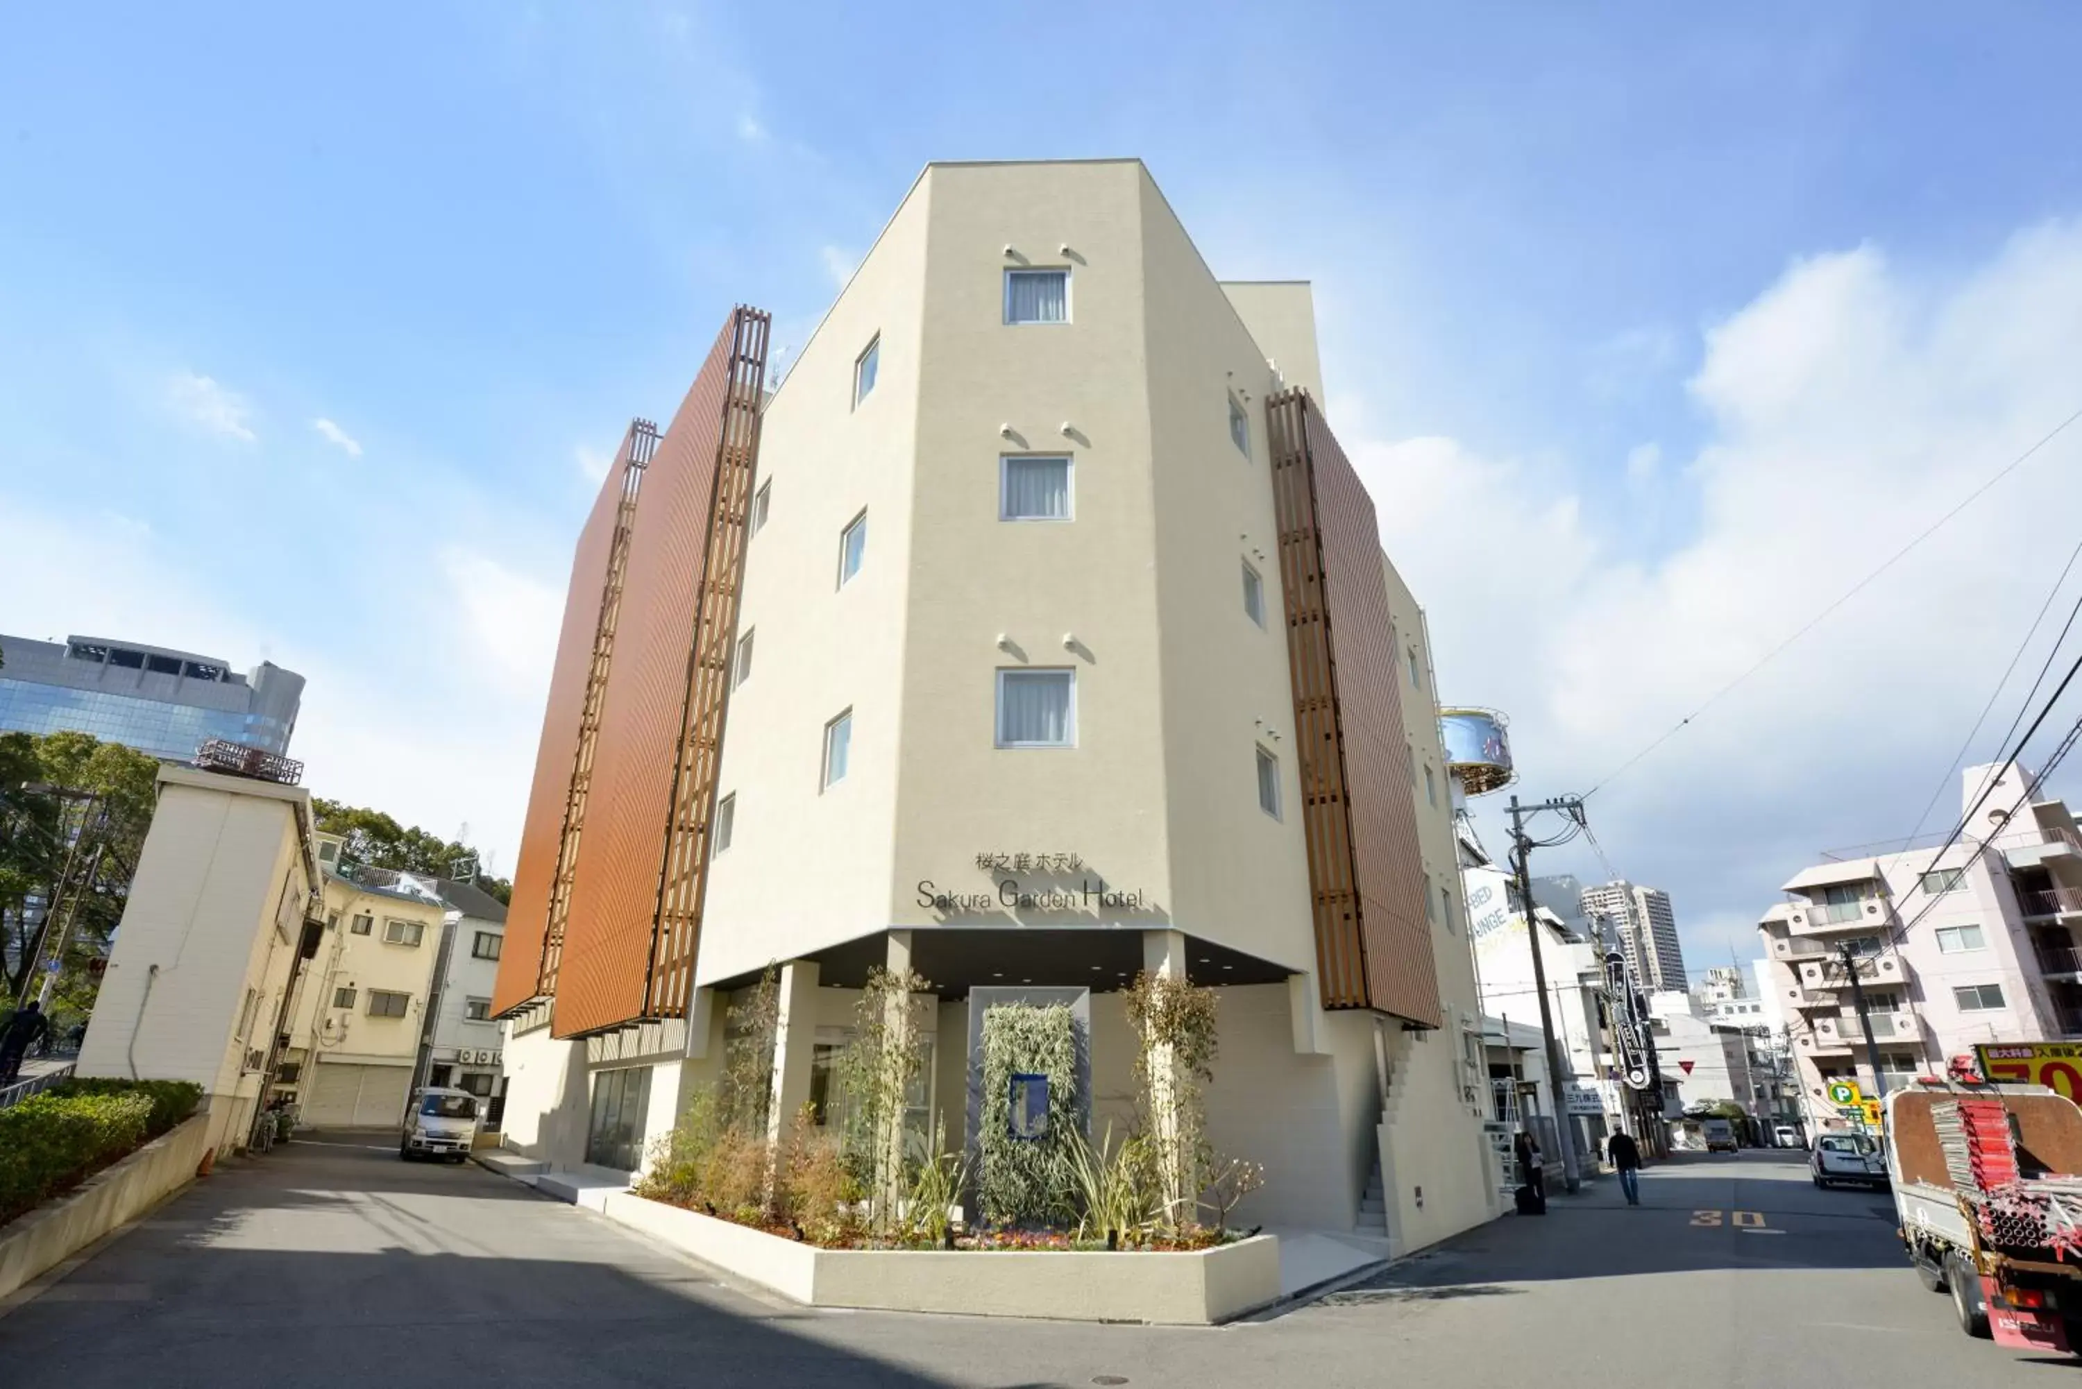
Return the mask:
<path id="1" fill-rule="evenodd" d="M 2082 1347 L 2082 1110 L 2042 1085 L 1953 1068 L 1886 1097 L 1901 1243 L 1959 1329 Z"/>

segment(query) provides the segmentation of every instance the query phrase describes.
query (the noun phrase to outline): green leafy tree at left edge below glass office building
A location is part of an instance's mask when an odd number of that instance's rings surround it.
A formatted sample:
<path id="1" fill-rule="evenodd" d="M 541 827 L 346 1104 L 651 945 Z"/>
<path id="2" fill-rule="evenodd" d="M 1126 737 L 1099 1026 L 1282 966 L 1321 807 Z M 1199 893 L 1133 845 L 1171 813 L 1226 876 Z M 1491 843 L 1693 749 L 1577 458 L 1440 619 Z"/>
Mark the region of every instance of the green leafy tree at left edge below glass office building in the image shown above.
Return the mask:
<path id="1" fill-rule="evenodd" d="M 0 985 L 35 991 L 58 954 L 54 1004 L 87 1012 L 94 962 L 123 920 L 152 825 L 158 762 L 87 733 L 0 735 Z"/>

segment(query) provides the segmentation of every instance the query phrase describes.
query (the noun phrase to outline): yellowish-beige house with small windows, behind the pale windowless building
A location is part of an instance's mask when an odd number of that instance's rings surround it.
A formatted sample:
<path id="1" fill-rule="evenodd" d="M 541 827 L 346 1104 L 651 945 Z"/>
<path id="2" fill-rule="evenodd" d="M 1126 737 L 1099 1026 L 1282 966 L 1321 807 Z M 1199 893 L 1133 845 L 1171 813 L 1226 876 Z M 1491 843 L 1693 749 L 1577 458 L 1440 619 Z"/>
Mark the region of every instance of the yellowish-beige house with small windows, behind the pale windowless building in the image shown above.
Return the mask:
<path id="1" fill-rule="evenodd" d="M 339 864 L 319 835 L 325 937 L 273 1093 L 310 1129 L 393 1129 L 418 1066 L 446 904 L 431 877 Z"/>

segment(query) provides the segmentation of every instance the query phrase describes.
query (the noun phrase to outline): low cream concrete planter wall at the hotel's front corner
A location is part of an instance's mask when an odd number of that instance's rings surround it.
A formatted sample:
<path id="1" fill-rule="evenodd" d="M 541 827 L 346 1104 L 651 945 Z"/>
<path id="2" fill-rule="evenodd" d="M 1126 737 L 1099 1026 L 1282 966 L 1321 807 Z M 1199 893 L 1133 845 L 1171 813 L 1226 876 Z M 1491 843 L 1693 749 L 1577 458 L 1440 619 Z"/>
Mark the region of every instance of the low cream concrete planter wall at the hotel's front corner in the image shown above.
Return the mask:
<path id="1" fill-rule="evenodd" d="M 814 1308 L 1208 1327 L 1280 1297 L 1272 1235 L 1193 1254 L 818 1249 L 631 1191 L 604 1214 Z"/>

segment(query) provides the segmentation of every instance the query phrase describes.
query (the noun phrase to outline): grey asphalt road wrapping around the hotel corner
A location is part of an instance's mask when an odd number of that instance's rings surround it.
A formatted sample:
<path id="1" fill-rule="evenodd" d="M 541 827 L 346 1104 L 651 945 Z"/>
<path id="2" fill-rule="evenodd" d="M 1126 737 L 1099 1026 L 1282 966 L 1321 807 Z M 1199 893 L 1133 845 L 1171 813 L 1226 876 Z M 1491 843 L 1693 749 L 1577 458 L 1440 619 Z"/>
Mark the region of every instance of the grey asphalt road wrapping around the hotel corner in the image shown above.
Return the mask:
<path id="1" fill-rule="evenodd" d="M 1605 1179 L 1233 1327 L 1087 1327 L 795 1308 L 475 1166 L 335 1135 L 221 1168 L 0 1306 L 0 1383 L 2005 1389 L 2076 1368 L 1965 1339 L 1884 1193 L 1743 1154 L 1655 1168 L 1643 1199 Z"/>

